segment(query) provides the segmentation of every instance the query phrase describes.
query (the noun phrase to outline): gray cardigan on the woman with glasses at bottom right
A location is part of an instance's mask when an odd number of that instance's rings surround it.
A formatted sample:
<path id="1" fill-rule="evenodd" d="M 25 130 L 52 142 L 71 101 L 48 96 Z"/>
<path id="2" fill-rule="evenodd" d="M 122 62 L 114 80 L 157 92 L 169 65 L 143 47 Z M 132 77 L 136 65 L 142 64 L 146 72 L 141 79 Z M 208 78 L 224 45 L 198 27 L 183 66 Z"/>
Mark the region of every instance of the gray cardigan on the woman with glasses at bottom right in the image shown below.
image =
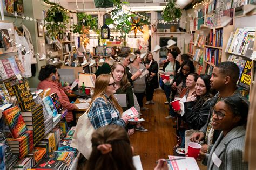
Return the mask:
<path id="1" fill-rule="evenodd" d="M 225 169 L 225 170 L 243 170 L 248 169 L 248 164 L 242 162 L 242 152 L 245 145 L 245 128 L 244 126 L 237 126 L 233 128 L 224 137 L 223 132 L 220 133 L 219 138 L 211 149 L 210 154 L 206 154 L 208 169 Z M 222 161 L 219 168 L 214 164 L 212 155 L 215 153 Z"/>

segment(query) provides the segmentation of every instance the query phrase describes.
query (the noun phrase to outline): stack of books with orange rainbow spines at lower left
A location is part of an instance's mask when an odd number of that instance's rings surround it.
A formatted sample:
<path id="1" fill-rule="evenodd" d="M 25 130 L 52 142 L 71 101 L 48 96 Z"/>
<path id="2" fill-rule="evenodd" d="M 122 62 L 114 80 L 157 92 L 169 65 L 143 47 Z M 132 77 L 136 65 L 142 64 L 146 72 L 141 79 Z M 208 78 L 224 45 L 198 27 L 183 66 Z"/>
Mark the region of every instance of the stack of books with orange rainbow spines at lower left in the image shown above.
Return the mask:
<path id="1" fill-rule="evenodd" d="M 19 138 L 7 138 L 7 141 L 12 153 L 18 154 L 19 159 L 24 158 L 33 150 L 33 132 L 30 130 L 27 130 Z"/>

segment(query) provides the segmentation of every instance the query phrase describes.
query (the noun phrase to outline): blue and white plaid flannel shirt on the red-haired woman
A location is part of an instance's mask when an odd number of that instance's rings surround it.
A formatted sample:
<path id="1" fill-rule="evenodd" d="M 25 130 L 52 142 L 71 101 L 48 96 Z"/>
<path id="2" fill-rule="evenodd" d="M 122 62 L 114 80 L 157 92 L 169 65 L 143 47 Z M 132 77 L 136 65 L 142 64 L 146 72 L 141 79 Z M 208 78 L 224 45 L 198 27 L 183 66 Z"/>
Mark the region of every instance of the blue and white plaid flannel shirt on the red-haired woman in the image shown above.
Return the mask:
<path id="1" fill-rule="evenodd" d="M 88 118 L 95 129 L 109 125 L 117 124 L 125 127 L 125 122 L 120 119 L 119 111 L 114 107 L 112 101 L 107 97 L 107 102 L 102 98 L 96 98 L 93 101 Z M 112 118 L 112 114 L 117 113 L 117 117 Z"/>

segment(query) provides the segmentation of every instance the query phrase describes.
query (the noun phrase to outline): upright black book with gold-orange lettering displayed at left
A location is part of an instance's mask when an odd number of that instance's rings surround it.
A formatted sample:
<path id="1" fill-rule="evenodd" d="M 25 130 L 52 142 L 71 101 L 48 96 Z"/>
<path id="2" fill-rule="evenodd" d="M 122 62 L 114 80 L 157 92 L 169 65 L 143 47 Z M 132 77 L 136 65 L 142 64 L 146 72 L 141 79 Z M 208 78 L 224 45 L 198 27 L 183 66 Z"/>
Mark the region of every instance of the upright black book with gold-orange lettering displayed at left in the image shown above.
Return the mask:
<path id="1" fill-rule="evenodd" d="M 14 84 L 12 86 L 12 89 L 14 90 L 15 96 L 19 103 L 19 107 L 22 111 L 31 109 L 36 105 L 36 103 L 33 100 L 33 96 L 30 92 L 28 81 L 24 81 L 19 84 Z"/>

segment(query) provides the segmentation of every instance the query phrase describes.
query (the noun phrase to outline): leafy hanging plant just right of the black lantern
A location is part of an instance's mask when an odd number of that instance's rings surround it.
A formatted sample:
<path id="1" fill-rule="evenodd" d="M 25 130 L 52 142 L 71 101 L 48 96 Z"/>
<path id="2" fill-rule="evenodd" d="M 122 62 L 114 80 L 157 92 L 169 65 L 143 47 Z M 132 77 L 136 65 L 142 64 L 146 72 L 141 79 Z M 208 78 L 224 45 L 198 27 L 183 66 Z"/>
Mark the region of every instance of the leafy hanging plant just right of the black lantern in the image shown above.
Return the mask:
<path id="1" fill-rule="evenodd" d="M 136 17 L 134 13 L 130 12 L 129 2 L 120 0 L 113 0 L 114 8 L 109 12 L 111 18 L 107 18 L 105 23 L 107 25 L 113 24 L 116 29 L 125 37 L 131 31 L 131 17 Z M 127 6 L 129 7 L 127 7 Z"/>

